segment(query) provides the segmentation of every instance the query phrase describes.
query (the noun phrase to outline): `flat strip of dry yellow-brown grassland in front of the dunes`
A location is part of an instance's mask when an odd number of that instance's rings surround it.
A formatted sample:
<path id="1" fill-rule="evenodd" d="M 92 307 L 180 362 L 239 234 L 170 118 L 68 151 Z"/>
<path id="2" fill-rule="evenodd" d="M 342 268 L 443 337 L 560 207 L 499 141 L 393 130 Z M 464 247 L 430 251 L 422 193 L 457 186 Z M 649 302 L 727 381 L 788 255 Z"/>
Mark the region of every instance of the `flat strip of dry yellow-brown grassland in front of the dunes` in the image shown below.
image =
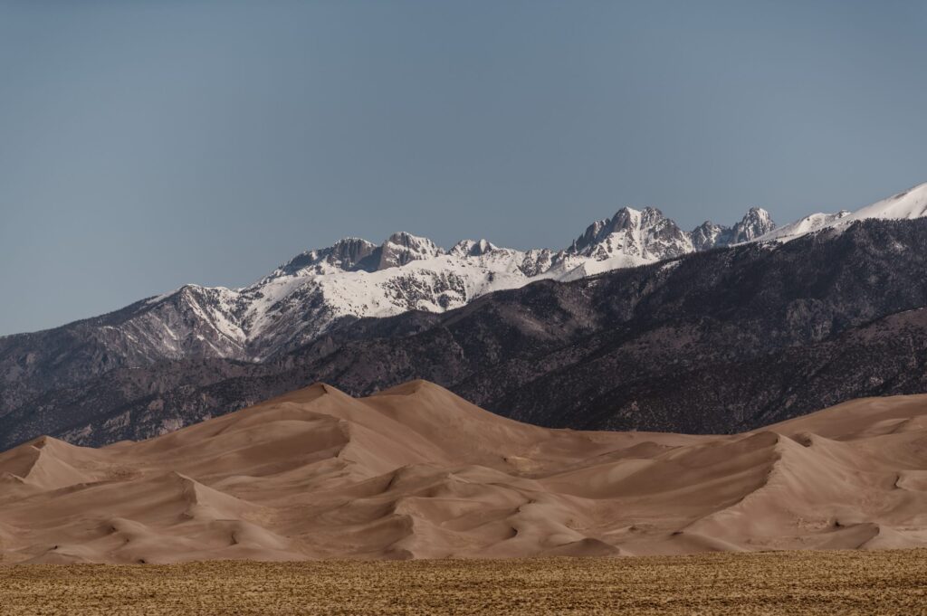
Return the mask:
<path id="1" fill-rule="evenodd" d="M 925 614 L 927 550 L 0 567 L 3 614 Z"/>

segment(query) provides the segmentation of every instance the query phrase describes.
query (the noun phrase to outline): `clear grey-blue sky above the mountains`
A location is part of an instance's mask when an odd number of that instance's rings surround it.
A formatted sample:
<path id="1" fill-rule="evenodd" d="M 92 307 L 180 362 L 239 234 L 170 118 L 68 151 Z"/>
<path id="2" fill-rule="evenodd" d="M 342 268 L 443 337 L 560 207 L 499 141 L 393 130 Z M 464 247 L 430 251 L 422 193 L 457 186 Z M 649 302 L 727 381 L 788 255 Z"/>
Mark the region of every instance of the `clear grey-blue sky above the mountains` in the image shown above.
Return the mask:
<path id="1" fill-rule="evenodd" d="M 0 334 L 343 236 L 570 244 L 927 182 L 927 3 L 0 2 Z"/>

